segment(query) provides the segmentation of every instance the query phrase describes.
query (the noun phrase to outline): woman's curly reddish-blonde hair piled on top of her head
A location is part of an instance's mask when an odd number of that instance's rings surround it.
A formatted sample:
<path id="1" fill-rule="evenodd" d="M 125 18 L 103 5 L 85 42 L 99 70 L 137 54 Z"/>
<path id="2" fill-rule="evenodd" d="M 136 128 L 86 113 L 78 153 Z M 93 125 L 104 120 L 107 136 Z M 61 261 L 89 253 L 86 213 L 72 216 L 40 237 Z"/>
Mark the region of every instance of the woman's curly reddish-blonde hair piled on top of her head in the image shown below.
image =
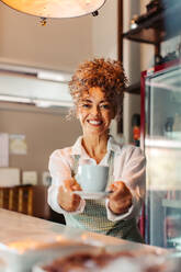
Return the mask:
<path id="1" fill-rule="evenodd" d="M 121 61 L 94 58 L 78 66 L 69 82 L 69 90 L 75 106 L 77 106 L 84 91 L 89 92 L 90 88 L 100 87 L 114 106 L 115 114 L 118 115 L 126 86 L 127 78 Z"/>

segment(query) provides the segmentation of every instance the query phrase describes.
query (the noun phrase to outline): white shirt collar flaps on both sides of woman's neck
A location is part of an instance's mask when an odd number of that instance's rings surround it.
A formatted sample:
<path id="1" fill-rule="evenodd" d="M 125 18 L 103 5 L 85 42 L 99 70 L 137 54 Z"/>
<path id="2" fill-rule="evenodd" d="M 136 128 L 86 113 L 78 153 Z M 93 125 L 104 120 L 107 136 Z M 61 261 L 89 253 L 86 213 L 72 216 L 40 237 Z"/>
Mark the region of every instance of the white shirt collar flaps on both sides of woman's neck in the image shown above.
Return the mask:
<path id="1" fill-rule="evenodd" d="M 72 146 L 71 155 L 80 155 L 86 158 L 89 158 L 81 143 L 82 143 L 82 136 L 79 136 L 75 145 Z M 115 141 L 113 136 L 110 136 L 108 140 L 108 152 L 110 154 L 111 150 L 114 152 L 121 152 L 121 146 Z"/>

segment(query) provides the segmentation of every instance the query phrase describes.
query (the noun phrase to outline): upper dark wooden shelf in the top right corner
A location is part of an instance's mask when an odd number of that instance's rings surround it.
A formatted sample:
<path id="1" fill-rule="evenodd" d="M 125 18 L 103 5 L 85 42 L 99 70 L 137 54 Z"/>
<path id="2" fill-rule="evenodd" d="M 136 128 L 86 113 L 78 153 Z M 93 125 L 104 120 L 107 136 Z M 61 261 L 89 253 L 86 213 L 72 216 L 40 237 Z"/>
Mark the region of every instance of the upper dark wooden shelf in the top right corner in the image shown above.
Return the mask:
<path id="1" fill-rule="evenodd" d="M 134 42 L 158 45 L 181 34 L 181 3 L 157 12 L 140 22 L 134 30 L 123 33 L 124 38 Z"/>

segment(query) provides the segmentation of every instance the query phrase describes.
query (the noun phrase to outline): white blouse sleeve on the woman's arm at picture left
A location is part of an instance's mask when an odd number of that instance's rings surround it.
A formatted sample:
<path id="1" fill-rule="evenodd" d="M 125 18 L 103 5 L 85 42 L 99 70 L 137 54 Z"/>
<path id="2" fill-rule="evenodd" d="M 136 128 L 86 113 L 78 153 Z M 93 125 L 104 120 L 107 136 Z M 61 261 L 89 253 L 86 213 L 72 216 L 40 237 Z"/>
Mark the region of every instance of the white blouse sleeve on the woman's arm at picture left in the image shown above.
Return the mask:
<path id="1" fill-rule="evenodd" d="M 61 150 L 55 150 L 49 157 L 48 163 L 49 173 L 52 175 L 52 184 L 48 188 L 48 205 L 57 213 L 65 214 L 67 213 L 58 204 L 58 190 L 60 185 L 64 185 L 64 180 L 71 179 L 71 168 L 66 159 L 66 155 Z M 86 202 L 81 200 L 79 207 L 76 212 L 71 214 L 82 213 L 84 209 Z"/>

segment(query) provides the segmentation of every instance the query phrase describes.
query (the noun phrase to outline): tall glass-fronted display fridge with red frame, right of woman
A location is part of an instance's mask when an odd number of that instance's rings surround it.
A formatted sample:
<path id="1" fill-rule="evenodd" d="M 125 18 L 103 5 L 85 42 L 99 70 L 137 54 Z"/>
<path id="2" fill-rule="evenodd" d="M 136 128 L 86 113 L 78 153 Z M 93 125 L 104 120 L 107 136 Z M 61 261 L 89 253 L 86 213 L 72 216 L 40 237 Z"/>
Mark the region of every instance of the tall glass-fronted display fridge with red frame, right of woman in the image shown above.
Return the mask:
<path id="1" fill-rule="evenodd" d="M 181 60 L 142 73 L 146 242 L 181 250 Z"/>

